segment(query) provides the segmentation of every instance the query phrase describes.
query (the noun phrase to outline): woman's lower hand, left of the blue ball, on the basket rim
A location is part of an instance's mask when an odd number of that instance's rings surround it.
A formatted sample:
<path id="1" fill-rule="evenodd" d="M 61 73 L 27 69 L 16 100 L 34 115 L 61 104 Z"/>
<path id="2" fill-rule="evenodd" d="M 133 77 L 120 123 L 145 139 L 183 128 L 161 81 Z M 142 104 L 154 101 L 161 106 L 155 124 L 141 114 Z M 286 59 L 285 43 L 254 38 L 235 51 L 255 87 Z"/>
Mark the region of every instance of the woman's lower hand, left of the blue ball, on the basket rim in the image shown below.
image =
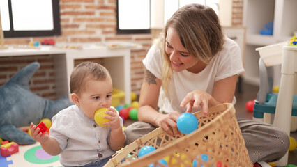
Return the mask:
<path id="1" fill-rule="evenodd" d="M 178 131 L 176 121 L 180 116 L 180 113 L 174 111 L 173 113 L 163 114 L 159 116 L 156 120 L 159 127 L 165 130 L 170 135 L 178 136 L 180 132 Z"/>

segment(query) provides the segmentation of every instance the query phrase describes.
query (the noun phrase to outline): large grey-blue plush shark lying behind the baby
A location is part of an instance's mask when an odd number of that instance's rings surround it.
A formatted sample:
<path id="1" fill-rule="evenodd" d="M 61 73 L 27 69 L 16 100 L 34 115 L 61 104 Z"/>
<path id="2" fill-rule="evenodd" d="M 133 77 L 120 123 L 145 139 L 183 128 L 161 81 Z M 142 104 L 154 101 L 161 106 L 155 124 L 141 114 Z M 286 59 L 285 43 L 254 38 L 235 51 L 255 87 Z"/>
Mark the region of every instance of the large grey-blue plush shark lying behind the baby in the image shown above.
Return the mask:
<path id="1" fill-rule="evenodd" d="M 38 124 L 43 118 L 52 118 L 56 113 L 72 105 L 66 97 L 47 100 L 32 93 L 29 80 L 40 67 L 37 62 L 22 68 L 0 87 L 0 137 L 18 144 L 33 144 L 36 141 L 18 129 L 31 122 Z"/>

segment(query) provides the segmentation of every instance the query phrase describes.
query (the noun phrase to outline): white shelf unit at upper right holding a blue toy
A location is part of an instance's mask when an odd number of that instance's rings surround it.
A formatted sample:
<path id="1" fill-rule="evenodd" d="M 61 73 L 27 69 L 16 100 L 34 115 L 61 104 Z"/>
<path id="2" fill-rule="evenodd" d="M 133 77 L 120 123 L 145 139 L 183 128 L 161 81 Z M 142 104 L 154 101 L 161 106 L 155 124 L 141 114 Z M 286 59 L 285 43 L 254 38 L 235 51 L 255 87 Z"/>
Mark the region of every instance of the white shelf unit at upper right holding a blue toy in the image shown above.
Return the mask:
<path id="1" fill-rule="evenodd" d="M 243 25 L 246 26 L 245 75 L 254 85 L 259 79 L 258 47 L 289 41 L 297 31 L 295 0 L 246 0 L 243 3 Z M 280 69 L 276 69 L 280 70 Z"/>

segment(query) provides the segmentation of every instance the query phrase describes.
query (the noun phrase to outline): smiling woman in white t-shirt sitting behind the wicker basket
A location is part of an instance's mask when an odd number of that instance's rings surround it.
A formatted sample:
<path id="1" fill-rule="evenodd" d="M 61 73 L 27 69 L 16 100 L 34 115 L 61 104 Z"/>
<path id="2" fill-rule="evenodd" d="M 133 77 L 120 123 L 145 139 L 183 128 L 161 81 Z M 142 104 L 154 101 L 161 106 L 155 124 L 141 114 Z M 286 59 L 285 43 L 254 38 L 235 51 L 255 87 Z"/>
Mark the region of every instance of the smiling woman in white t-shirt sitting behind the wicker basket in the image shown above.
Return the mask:
<path id="1" fill-rule="evenodd" d="M 214 11 L 198 4 L 172 15 L 164 37 L 149 49 L 143 63 L 138 109 L 142 122 L 125 129 L 126 144 L 156 127 L 176 136 L 181 113 L 202 109 L 206 116 L 209 107 L 231 103 L 237 76 L 244 71 L 236 42 L 223 35 Z M 282 130 L 252 120 L 238 124 L 253 163 L 275 161 L 287 152 L 289 136 Z"/>

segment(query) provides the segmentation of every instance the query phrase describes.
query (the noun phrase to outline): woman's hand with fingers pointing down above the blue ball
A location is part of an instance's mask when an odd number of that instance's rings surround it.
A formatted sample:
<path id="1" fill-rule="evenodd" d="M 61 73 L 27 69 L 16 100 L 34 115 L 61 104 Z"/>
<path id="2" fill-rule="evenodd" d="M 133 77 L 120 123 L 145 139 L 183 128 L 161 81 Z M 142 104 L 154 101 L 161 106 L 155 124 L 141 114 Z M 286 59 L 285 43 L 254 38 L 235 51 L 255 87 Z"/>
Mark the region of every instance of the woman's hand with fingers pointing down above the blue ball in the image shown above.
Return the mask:
<path id="1" fill-rule="evenodd" d="M 181 108 L 187 106 L 187 111 L 185 111 L 187 113 L 192 113 L 192 108 L 198 109 L 199 106 L 201 106 L 203 115 L 206 117 L 208 113 L 208 104 L 211 102 L 212 98 L 213 97 L 204 90 L 194 90 L 183 98 L 180 106 Z"/>

